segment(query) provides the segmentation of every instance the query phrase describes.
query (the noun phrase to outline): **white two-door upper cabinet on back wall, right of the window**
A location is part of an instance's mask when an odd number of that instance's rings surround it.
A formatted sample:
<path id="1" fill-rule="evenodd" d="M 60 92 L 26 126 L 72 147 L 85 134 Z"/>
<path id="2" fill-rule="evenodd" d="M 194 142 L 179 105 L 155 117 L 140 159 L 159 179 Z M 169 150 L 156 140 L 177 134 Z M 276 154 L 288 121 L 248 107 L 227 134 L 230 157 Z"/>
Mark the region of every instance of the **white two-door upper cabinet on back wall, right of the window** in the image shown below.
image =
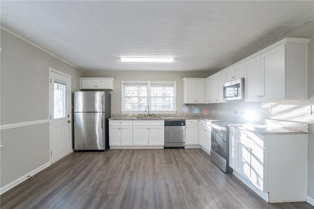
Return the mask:
<path id="1" fill-rule="evenodd" d="M 183 78 L 183 103 L 205 103 L 205 78 Z"/>

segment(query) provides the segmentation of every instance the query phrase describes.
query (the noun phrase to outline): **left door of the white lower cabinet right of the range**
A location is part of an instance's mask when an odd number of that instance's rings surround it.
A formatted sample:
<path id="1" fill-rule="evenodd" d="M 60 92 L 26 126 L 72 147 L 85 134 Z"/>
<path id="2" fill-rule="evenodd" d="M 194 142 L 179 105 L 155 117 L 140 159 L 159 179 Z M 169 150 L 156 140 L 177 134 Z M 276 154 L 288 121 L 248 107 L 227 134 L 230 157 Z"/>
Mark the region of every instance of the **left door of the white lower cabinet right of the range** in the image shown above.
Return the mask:
<path id="1" fill-rule="evenodd" d="M 247 142 L 236 139 L 235 149 L 235 171 L 248 179 L 248 173 L 250 170 L 250 156 L 247 148 Z"/>

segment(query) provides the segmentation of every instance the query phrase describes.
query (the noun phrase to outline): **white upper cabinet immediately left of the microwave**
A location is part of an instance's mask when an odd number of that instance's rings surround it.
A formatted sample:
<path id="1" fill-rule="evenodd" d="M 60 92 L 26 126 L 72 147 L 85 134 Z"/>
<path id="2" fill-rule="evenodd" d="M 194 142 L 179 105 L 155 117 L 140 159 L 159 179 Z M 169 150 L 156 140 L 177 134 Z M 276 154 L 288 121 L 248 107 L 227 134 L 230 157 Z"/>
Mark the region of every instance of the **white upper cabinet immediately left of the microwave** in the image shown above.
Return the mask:
<path id="1" fill-rule="evenodd" d="M 210 99 L 207 103 L 224 103 L 223 98 L 223 84 L 225 83 L 225 71 L 219 71 L 218 73 L 209 77 L 210 79 Z"/>

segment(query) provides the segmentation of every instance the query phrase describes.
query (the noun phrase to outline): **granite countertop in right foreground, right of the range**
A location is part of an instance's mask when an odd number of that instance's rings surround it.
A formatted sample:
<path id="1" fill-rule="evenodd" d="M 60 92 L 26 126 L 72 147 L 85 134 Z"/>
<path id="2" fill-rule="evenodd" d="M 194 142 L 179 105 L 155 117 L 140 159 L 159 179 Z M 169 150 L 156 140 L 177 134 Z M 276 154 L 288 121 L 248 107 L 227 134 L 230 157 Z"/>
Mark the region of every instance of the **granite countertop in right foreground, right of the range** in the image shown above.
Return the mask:
<path id="1" fill-rule="evenodd" d="M 254 132 L 259 135 L 281 135 L 281 134 L 306 134 L 309 132 L 297 131 L 285 129 L 277 126 L 267 126 L 267 125 L 252 125 L 252 124 L 242 124 L 242 125 L 230 125 L 230 127 L 235 127 L 236 129 L 243 131 Z"/>

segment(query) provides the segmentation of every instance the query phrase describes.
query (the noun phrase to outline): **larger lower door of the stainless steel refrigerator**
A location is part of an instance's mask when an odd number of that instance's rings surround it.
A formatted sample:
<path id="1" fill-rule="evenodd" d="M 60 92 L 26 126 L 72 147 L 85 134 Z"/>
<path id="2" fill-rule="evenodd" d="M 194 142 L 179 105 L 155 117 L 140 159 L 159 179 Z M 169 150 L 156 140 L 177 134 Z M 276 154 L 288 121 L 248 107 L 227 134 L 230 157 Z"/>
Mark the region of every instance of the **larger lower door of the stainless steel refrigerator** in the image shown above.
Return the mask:
<path id="1" fill-rule="evenodd" d="M 101 112 L 74 113 L 74 149 L 105 150 L 105 120 Z"/>

